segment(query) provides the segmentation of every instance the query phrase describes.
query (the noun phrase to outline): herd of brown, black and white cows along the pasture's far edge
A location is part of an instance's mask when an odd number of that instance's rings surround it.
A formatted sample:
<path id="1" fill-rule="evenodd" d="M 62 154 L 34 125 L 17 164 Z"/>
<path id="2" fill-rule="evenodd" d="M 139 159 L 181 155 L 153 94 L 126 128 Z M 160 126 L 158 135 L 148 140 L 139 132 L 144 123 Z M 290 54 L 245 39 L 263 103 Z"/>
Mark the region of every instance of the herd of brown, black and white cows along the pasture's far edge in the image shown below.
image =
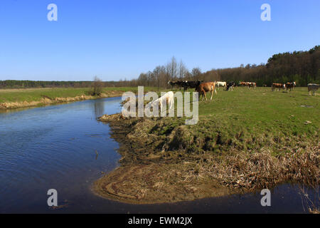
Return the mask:
<path id="1" fill-rule="evenodd" d="M 211 93 L 211 98 L 210 100 L 212 100 L 213 98 L 213 92 L 217 93 L 216 88 L 219 87 L 223 87 L 225 88 L 225 90 L 233 90 L 235 88 L 235 82 L 229 82 L 226 83 L 225 81 L 214 81 L 214 82 L 206 82 L 204 83 L 203 81 L 197 80 L 197 81 L 169 81 L 168 82 L 169 85 L 172 86 L 172 88 L 174 88 L 174 86 L 178 87 L 178 88 L 183 88 L 183 91 L 186 91 L 188 88 L 195 88 L 196 91 L 199 93 L 199 95 L 203 96 L 204 98 L 206 98 L 207 100 L 207 96 L 206 93 L 210 92 Z M 240 82 L 238 83 L 238 86 L 245 86 L 247 88 L 256 88 L 257 84 L 256 83 L 252 83 L 252 82 Z M 264 85 L 265 87 L 267 87 L 267 85 Z M 287 89 L 287 91 L 291 91 L 294 89 L 294 87 L 296 86 L 295 82 L 292 83 L 272 83 L 271 86 L 271 90 L 274 91 L 276 88 L 278 89 L 278 91 L 282 88 Z M 308 93 L 312 92 L 312 95 L 316 95 L 316 90 L 319 89 L 319 85 L 318 84 L 308 84 Z M 202 97 L 202 99 L 203 99 Z"/>

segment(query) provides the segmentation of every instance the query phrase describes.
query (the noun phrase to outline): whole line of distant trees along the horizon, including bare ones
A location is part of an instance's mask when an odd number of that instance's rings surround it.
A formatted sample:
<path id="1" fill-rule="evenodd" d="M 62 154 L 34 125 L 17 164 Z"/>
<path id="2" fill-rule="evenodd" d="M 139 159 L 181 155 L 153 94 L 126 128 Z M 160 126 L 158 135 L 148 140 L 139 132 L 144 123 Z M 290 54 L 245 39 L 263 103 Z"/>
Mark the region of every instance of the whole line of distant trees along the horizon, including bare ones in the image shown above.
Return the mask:
<path id="1" fill-rule="evenodd" d="M 309 51 L 294 51 L 293 53 L 278 53 L 260 65 L 239 66 L 236 68 L 218 68 L 201 72 L 200 68 L 191 71 L 183 61 L 179 63 L 172 57 L 164 66 L 156 66 L 153 71 L 141 73 L 137 79 L 104 81 L 105 87 L 120 86 L 154 86 L 168 87 L 168 81 L 178 80 L 203 81 L 251 81 L 257 86 L 271 86 L 272 83 L 287 83 L 295 81 L 297 86 L 308 83 L 320 83 L 320 46 Z M 50 87 L 92 87 L 93 81 L 0 81 L 0 88 L 50 88 Z"/>

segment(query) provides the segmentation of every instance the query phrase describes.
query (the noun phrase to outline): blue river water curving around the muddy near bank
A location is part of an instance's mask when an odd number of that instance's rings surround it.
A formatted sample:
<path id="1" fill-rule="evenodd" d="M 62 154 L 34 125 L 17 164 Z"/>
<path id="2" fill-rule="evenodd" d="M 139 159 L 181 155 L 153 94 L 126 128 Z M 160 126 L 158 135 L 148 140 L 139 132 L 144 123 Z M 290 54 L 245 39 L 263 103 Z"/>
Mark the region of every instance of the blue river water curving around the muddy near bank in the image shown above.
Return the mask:
<path id="1" fill-rule="evenodd" d="M 121 98 L 85 100 L 0 113 L 0 213 L 219 213 L 305 212 L 297 185 L 261 195 L 232 195 L 174 204 L 124 204 L 91 191 L 92 182 L 117 167 L 118 143 L 96 118 L 119 113 Z M 97 152 L 96 152 L 97 151 Z M 47 191 L 58 191 L 60 209 L 50 209 Z M 309 191 L 314 196 L 316 192 Z"/>

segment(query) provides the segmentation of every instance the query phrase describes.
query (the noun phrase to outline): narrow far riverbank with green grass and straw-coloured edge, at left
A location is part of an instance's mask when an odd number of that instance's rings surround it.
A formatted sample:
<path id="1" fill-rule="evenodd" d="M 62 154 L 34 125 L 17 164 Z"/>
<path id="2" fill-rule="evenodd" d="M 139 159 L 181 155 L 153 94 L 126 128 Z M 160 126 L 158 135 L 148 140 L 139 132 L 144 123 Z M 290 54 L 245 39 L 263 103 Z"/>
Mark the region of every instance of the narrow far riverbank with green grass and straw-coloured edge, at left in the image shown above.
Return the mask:
<path id="1" fill-rule="evenodd" d="M 145 88 L 154 90 L 155 88 Z M 55 103 L 95 98 L 121 96 L 125 91 L 137 93 L 137 88 L 108 87 L 102 89 L 100 96 L 90 95 L 92 88 L 30 88 L 30 89 L 1 89 L 0 108 L 24 108 Z"/>

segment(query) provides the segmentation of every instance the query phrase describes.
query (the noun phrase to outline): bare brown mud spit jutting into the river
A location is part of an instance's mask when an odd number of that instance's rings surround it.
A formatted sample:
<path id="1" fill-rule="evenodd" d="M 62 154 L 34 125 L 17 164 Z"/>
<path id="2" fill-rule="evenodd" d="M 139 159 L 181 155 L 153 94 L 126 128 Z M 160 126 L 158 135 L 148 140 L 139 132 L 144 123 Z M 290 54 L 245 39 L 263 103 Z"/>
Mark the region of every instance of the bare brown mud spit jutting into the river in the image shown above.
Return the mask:
<path id="1" fill-rule="evenodd" d="M 154 204 L 239 192 L 206 178 L 186 180 L 186 174 L 193 172 L 193 165 L 189 165 L 188 160 L 174 159 L 172 162 L 170 156 L 150 153 L 149 147 L 137 142 L 133 145 L 127 138 L 132 120 L 114 114 L 104 115 L 100 121 L 110 124 L 112 138 L 119 142 L 118 152 L 122 155 L 121 166 L 94 183 L 93 190 L 100 197 L 131 204 Z"/>

